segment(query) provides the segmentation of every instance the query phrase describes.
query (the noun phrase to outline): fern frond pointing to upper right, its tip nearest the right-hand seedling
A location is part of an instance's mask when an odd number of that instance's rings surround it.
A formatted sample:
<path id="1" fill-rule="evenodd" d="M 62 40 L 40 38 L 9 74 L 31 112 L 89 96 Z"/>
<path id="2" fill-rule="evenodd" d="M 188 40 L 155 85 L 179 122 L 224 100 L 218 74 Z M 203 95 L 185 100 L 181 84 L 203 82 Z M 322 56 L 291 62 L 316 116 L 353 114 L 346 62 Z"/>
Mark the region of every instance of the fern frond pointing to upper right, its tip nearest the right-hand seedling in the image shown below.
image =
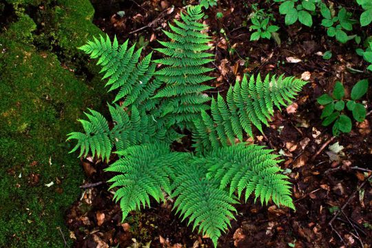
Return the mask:
<path id="1" fill-rule="evenodd" d="M 227 102 L 218 95 L 211 101 L 211 115 L 202 110 L 200 118 L 194 119 L 194 147 L 203 152 L 234 144 L 244 134 L 253 137 L 252 126 L 262 132 L 262 123 L 269 125 L 273 107 L 289 105 L 306 83 L 283 75 L 267 75 L 263 81 L 260 74 L 249 81 L 244 76 L 242 83 L 236 81 L 229 88 Z"/>

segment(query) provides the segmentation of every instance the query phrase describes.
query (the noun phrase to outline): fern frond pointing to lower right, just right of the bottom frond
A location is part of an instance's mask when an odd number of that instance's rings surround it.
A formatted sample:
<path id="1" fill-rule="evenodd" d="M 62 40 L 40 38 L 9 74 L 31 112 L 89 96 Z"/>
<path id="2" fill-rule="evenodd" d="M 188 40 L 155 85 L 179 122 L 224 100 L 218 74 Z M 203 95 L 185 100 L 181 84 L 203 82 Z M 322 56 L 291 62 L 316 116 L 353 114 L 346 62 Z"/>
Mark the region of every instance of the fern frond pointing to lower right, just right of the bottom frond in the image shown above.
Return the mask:
<path id="1" fill-rule="evenodd" d="M 276 205 L 295 209 L 291 199 L 288 177 L 282 174 L 276 160 L 278 155 L 258 145 L 238 143 L 214 149 L 199 158 L 198 163 L 208 170 L 207 178 L 219 180 L 220 189 L 229 188 L 229 195 L 245 191 L 245 201 L 254 193 L 262 205 L 273 200 Z"/>

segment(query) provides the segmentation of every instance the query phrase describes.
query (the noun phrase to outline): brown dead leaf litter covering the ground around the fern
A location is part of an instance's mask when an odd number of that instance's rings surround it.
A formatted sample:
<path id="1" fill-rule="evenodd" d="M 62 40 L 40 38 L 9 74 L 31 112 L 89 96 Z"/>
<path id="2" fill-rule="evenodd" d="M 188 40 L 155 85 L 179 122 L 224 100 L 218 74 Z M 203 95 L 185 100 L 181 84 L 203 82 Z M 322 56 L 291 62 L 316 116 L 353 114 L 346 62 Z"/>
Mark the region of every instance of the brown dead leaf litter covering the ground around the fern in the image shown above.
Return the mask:
<path id="1" fill-rule="evenodd" d="M 165 39 L 161 28 L 178 16 L 181 1 L 125 1 L 102 4 L 92 1 L 94 23 L 110 37 L 145 45 L 145 50 L 158 48 Z M 337 1 L 356 10 L 352 1 Z M 285 74 L 310 83 L 298 99 L 282 112 L 276 112 L 265 136 L 256 132 L 254 142 L 267 145 L 285 159 L 280 164 L 293 183 L 296 211 L 278 209 L 273 204 L 261 206 L 250 199 L 238 207 L 236 220 L 221 236 L 218 247 L 371 247 L 372 244 L 372 92 L 366 94 L 367 117 L 353 123 L 349 134 L 333 137 L 330 127 L 323 127 L 316 99 L 331 92 L 335 81 L 341 81 L 347 97 L 351 87 L 371 74 L 362 57 L 355 53 L 352 42 L 342 45 L 327 37 L 315 19 L 313 28 L 296 24 L 286 26 L 284 17 L 273 7 L 276 25 L 280 26 L 281 45 L 273 39 L 249 41 L 247 28 L 251 4 L 269 9 L 266 1 L 221 0 L 217 7 L 206 10 L 205 23 L 216 61 L 211 72 L 216 87 L 210 91 L 225 94 L 230 84 L 247 74 Z M 116 12 L 125 11 L 120 17 Z M 216 13 L 222 12 L 221 19 Z M 315 31 L 315 32 L 314 32 Z M 358 32 L 358 30 L 356 30 Z M 371 28 L 367 30 L 371 35 Z M 324 60 L 322 54 L 333 56 Z M 155 56 L 158 54 L 155 53 Z M 112 202 L 103 173 L 106 164 L 84 160 L 87 174 L 80 200 L 66 213 L 66 223 L 74 247 L 212 247 L 171 211 L 172 202 L 152 205 L 141 213 L 133 212 L 121 223 L 120 207 Z M 147 244 L 147 245 L 146 245 Z"/>

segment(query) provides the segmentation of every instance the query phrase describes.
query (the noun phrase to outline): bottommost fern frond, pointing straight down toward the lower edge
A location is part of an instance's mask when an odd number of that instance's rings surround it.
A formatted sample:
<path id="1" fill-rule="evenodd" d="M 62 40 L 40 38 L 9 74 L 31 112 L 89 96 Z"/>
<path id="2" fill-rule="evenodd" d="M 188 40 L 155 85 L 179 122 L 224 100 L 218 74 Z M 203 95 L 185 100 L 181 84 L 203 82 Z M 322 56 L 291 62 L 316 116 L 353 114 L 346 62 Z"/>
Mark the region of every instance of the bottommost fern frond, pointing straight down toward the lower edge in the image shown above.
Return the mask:
<path id="1" fill-rule="evenodd" d="M 238 202 L 219 188 L 217 180 L 205 178 L 205 172 L 197 163 L 180 165 L 172 196 L 176 197 L 176 214 L 179 213 L 183 220 L 189 218 L 188 225 L 193 223 L 193 229 L 198 227 L 216 247 L 221 233 L 230 226 L 230 220 L 235 219 L 233 204 Z"/>

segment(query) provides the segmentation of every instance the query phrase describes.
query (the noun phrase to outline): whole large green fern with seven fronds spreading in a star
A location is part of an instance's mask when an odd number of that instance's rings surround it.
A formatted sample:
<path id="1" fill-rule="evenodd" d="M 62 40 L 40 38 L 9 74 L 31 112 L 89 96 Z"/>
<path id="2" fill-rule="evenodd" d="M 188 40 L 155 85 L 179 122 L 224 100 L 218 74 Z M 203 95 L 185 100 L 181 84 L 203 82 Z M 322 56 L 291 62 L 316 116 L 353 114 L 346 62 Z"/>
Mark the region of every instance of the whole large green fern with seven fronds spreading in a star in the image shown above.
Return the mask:
<path id="1" fill-rule="evenodd" d="M 108 37 L 94 39 L 81 50 L 99 58 L 109 91 L 116 90 L 114 103 L 108 105 L 113 127 L 99 112 L 90 110 L 80 120 L 85 132 L 72 132 L 68 140 L 77 144 L 79 156 L 92 154 L 110 162 L 116 151 L 118 160 L 109 165 L 116 172 L 110 183 L 116 189 L 114 200 L 123 210 L 123 221 L 130 211 L 146 207 L 150 199 L 175 198 L 174 210 L 193 228 L 211 238 L 214 245 L 229 227 L 244 195 L 254 195 L 262 204 L 271 201 L 295 209 L 291 184 L 280 174 L 278 156 L 272 150 L 243 142 L 253 136 L 254 127 L 262 132 L 269 125 L 274 107 L 286 106 L 306 82 L 293 77 L 258 75 L 236 82 L 217 99 L 205 95 L 212 79 L 209 37 L 200 6 L 187 8 L 180 21 L 165 31 L 172 42 L 161 42 L 157 49 L 165 58 L 151 61 L 151 53 L 118 45 Z M 143 59 L 141 59 L 143 57 Z M 164 67 L 156 70 L 156 65 Z M 211 100 L 209 104 L 208 101 Z M 192 132 L 194 153 L 174 152 L 173 141 L 180 141 L 176 130 Z M 165 193 L 165 194 L 164 194 Z"/>

